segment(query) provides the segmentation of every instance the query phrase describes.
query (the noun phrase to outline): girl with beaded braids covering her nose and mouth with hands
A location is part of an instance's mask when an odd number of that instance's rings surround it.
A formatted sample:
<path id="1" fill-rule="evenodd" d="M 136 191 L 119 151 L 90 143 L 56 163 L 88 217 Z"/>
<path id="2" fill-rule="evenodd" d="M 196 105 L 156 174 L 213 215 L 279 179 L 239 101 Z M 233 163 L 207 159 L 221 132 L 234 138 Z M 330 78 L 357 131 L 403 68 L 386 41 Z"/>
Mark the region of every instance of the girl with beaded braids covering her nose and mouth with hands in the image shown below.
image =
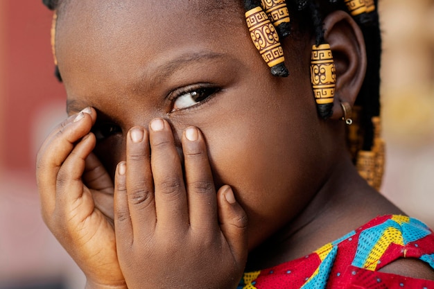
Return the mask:
<path id="1" fill-rule="evenodd" d="M 44 3 L 42 215 L 87 288 L 434 288 L 433 232 L 372 187 L 376 3 Z"/>

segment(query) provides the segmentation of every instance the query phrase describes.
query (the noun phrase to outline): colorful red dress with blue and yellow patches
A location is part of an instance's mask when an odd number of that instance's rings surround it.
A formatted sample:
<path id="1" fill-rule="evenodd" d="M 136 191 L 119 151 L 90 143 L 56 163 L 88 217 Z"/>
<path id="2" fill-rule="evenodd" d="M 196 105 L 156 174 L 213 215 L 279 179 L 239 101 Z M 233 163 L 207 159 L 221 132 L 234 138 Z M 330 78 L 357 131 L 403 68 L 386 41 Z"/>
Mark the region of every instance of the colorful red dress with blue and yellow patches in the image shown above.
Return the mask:
<path id="1" fill-rule="evenodd" d="M 238 289 L 434 289 L 434 281 L 377 272 L 399 258 L 434 269 L 434 234 L 406 216 L 382 216 L 300 259 L 246 272 Z"/>

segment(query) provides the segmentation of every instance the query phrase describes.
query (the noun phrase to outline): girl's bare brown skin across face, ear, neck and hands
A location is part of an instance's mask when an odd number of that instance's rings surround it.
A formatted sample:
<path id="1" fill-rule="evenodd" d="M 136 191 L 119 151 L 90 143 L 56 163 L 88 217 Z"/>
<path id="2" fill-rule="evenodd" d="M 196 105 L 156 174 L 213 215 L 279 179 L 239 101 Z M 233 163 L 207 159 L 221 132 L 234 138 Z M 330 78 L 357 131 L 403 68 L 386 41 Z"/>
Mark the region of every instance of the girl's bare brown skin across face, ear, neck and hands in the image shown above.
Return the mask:
<path id="1" fill-rule="evenodd" d="M 87 288 L 236 288 L 245 269 L 402 213 L 346 153 L 339 101 L 354 104 L 366 66 L 351 17 L 324 21 L 338 82 L 323 121 L 309 78 L 313 40 L 288 37 L 291 75 L 275 78 L 241 6 L 227 5 L 60 6 L 56 54 L 71 116 L 42 146 L 37 179 L 44 220 Z M 411 276 L 407 264 L 397 268 Z"/>

